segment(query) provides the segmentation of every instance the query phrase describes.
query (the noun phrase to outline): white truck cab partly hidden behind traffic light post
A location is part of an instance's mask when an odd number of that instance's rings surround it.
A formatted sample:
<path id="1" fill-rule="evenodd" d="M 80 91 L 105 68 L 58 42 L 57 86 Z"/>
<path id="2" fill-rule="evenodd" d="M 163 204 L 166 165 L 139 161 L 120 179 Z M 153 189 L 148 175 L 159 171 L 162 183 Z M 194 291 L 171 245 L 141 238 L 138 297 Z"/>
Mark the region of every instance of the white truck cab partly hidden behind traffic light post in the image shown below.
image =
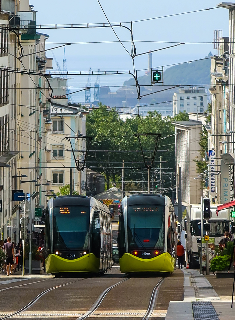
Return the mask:
<path id="1" fill-rule="evenodd" d="M 230 209 L 217 212 L 218 205 L 211 205 L 211 219 L 209 237 L 215 239 L 215 245 L 219 245 L 220 240 L 224 237 L 224 232 L 232 230 L 230 218 Z M 206 220 L 203 221 L 205 223 Z M 203 236 L 206 233 L 203 231 Z M 201 205 L 192 205 L 187 216 L 187 254 L 190 268 L 200 267 L 200 250 L 201 250 Z"/>

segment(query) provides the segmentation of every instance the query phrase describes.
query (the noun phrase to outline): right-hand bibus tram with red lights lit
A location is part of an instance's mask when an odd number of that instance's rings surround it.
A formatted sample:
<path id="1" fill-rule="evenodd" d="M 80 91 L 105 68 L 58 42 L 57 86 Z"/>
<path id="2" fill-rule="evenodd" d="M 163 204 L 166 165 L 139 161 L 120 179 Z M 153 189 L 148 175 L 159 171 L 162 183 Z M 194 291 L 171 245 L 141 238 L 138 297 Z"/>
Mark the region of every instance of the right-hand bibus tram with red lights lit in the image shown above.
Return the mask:
<path id="1" fill-rule="evenodd" d="M 137 194 L 123 198 L 118 226 L 122 273 L 172 273 L 176 241 L 174 207 L 168 196 Z"/>

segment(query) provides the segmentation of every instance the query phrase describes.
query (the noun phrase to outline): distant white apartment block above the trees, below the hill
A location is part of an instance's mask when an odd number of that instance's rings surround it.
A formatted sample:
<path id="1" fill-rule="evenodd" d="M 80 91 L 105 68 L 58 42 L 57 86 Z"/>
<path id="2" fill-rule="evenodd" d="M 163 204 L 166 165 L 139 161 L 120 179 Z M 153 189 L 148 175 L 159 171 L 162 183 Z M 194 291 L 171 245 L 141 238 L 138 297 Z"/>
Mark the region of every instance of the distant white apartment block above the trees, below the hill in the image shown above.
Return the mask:
<path id="1" fill-rule="evenodd" d="M 204 113 L 207 109 L 205 87 L 184 87 L 173 95 L 173 116 L 179 112 Z"/>

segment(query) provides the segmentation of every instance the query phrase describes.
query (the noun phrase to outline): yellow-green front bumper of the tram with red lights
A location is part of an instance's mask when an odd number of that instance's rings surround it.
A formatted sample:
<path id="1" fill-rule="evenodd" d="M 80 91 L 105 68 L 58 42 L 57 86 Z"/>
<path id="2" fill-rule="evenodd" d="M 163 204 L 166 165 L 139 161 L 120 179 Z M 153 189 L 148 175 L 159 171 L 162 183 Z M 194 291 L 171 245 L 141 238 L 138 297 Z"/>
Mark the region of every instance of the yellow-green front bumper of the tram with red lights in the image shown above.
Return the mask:
<path id="1" fill-rule="evenodd" d="M 168 252 L 162 253 L 151 259 L 142 259 L 131 253 L 124 253 L 119 259 L 120 271 L 130 272 L 173 272 L 175 268 L 175 258 Z"/>

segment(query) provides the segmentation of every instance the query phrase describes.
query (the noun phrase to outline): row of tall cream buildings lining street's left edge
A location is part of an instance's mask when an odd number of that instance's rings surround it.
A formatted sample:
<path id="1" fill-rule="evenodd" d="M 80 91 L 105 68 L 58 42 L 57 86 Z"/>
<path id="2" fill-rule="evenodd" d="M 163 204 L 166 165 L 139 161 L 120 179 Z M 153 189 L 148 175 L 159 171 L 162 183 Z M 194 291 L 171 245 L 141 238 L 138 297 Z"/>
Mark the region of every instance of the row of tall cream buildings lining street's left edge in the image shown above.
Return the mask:
<path id="1" fill-rule="evenodd" d="M 12 192 L 34 195 L 37 207 L 46 204 L 40 191 L 46 170 L 39 167 L 45 167 L 43 110 L 48 93 L 46 79 L 33 73 L 45 72 L 51 61 L 39 52 L 48 35 L 37 33 L 35 26 L 36 11 L 28 0 L 0 1 L 0 238 L 11 236 L 16 242 L 20 202 L 13 201 Z M 32 180 L 38 183 L 24 182 Z"/>

